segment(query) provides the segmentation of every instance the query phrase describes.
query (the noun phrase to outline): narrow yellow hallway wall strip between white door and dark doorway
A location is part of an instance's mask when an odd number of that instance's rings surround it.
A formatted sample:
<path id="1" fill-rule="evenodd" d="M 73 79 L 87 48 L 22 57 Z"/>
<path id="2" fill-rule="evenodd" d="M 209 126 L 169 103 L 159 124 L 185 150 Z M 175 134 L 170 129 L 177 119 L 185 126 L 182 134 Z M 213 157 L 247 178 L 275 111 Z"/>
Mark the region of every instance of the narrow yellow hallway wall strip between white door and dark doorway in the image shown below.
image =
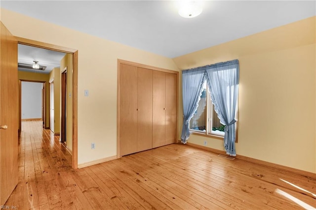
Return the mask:
<path id="1" fill-rule="evenodd" d="M 54 81 L 54 133 L 60 133 L 60 68 L 55 67 L 49 73 L 49 82 Z"/>

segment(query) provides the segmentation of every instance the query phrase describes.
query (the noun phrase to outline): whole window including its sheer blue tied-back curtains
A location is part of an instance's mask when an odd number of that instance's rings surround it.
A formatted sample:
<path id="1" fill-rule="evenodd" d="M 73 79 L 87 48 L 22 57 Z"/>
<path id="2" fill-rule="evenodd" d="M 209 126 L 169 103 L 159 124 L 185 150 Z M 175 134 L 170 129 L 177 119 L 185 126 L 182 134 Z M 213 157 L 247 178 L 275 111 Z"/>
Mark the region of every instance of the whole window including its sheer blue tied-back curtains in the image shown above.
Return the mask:
<path id="1" fill-rule="evenodd" d="M 208 88 L 211 88 L 216 111 L 221 114 L 225 125 L 217 124 Z M 203 85 L 204 84 L 204 85 Z M 237 142 L 237 103 L 239 84 L 239 61 L 229 60 L 211 65 L 201 66 L 182 71 L 183 126 L 181 142 L 187 143 L 190 133 L 217 136 L 224 139 L 226 153 L 236 156 Z M 203 94 L 201 91 L 203 90 Z M 200 104 L 198 106 L 198 104 Z M 196 115 L 194 115 L 196 112 Z M 192 119 L 192 117 L 194 117 Z"/>

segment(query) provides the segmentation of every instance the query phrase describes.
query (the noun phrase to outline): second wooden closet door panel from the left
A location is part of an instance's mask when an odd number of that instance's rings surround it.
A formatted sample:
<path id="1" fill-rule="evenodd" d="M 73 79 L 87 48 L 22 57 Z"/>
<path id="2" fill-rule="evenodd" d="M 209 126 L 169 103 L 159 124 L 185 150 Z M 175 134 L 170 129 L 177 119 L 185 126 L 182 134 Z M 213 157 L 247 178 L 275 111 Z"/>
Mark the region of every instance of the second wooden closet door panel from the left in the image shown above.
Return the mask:
<path id="1" fill-rule="evenodd" d="M 137 151 L 152 149 L 153 71 L 138 68 Z"/>

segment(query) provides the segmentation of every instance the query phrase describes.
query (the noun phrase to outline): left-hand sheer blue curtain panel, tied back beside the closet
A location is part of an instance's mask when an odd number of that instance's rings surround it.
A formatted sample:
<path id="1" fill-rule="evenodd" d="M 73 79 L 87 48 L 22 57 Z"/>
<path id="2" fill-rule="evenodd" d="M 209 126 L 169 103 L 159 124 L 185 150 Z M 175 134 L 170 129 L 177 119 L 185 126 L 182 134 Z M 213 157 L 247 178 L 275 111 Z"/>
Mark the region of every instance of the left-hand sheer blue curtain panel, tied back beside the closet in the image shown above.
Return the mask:
<path id="1" fill-rule="evenodd" d="M 182 71 L 183 126 L 181 142 L 183 144 L 187 143 L 190 136 L 189 123 L 197 109 L 205 77 L 203 67 Z"/>

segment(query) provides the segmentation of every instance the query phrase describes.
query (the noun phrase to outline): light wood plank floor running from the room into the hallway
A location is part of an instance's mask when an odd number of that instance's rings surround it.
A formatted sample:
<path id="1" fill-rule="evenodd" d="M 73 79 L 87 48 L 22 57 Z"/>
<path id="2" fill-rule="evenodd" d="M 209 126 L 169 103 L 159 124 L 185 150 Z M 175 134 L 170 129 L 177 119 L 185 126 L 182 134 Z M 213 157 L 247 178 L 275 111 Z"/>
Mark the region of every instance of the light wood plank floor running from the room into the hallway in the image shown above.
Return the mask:
<path id="1" fill-rule="evenodd" d="M 23 121 L 22 126 L 19 183 L 5 204 L 19 210 L 316 207 L 315 179 L 185 145 L 74 171 L 71 155 L 49 130 L 41 129 L 41 121 Z"/>

